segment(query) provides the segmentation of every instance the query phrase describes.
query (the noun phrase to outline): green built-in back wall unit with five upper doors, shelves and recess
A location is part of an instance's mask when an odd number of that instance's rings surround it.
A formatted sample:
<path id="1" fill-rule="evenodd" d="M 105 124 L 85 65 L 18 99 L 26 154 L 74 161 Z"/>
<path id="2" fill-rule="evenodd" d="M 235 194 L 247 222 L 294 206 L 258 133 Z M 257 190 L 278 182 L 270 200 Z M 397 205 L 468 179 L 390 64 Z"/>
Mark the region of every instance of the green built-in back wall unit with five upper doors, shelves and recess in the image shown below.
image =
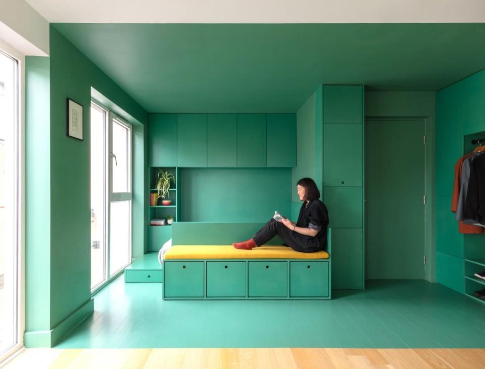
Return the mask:
<path id="1" fill-rule="evenodd" d="M 262 222 L 275 206 L 289 215 L 296 124 L 296 114 L 150 114 L 149 191 L 156 192 L 159 168 L 176 178 L 172 204 L 151 205 L 150 220 Z M 255 192 L 257 183 L 274 188 L 272 197 Z M 218 201 L 225 213 L 214 213 L 221 210 Z M 251 219 L 249 207 L 263 203 L 264 218 Z M 149 225 L 148 237 L 149 251 L 158 251 L 172 237 L 171 226 Z"/>

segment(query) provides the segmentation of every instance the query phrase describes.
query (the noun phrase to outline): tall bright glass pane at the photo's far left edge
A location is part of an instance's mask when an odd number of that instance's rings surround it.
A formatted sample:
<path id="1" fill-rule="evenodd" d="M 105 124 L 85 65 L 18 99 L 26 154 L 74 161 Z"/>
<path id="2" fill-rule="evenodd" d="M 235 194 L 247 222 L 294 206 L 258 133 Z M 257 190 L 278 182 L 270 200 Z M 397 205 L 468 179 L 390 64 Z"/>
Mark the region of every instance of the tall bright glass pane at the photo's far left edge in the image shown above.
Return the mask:
<path id="1" fill-rule="evenodd" d="M 0 353 L 17 343 L 16 68 L 0 52 Z"/>

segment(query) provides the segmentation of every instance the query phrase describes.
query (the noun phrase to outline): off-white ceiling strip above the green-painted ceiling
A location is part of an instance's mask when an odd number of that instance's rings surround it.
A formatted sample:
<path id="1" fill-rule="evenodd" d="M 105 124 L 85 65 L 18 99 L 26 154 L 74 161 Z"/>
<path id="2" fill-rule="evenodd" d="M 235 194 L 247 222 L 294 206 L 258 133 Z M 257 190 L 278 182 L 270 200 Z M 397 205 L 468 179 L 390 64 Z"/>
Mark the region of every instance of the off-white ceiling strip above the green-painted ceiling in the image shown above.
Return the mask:
<path id="1" fill-rule="evenodd" d="M 26 0 L 66 23 L 467 23 L 485 0 Z"/>

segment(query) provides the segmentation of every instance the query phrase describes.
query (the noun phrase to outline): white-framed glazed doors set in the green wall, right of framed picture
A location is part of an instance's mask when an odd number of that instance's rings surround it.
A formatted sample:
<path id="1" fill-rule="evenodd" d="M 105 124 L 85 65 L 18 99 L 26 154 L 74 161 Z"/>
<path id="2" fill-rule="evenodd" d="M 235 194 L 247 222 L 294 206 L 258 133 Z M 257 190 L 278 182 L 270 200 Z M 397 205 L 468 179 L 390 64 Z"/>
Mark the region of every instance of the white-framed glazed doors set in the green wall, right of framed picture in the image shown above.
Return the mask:
<path id="1" fill-rule="evenodd" d="M 91 104 L 91 290 L 131 261 L 131 126 Z"/>

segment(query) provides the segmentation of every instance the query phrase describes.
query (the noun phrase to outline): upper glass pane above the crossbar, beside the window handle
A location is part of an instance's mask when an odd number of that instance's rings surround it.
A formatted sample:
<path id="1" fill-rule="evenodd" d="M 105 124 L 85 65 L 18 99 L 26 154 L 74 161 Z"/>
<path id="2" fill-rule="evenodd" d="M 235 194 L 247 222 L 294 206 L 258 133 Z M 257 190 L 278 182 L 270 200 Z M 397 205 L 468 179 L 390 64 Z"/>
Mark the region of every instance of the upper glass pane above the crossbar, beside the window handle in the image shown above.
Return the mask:
<path id="1" fill-rule="evenodd" d="M 129 129 L 113 120 L 113 192 L 129 192 Z"/>

